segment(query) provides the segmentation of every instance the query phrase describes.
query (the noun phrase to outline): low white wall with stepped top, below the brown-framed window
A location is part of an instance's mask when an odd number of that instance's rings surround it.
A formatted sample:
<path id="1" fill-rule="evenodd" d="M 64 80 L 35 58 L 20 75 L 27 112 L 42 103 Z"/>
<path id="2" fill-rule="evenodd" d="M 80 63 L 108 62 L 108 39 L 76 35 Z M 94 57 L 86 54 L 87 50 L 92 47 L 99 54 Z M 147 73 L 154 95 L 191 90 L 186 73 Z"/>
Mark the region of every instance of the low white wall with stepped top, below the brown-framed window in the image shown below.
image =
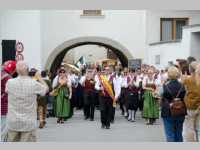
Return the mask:
<path id="1" fill-rule="evenodd" d="M 176 59 L 187 59 L 189 56 L 200 60 L 200 26 L 184 28 L 180 42 L 149 46 L 148 53 L 149 63 L 158 68 L 165 68 L 168 61 L 175 62 Z M 156 55 L 160 55 L 160 65 L 155 64 Z"/>

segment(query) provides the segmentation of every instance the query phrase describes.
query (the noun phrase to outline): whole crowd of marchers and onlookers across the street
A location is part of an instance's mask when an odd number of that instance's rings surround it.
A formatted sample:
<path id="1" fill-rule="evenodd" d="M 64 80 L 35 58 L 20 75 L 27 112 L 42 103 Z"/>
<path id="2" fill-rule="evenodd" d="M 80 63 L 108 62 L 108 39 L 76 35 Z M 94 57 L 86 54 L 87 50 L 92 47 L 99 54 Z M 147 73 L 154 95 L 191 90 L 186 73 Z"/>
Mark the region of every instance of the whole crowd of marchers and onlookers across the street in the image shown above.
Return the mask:
<path id="1" fill-rule="evenodd" d="M 15 72 L 17 77 L 12 77 Z M 6 141 L 36 141 L 37 119 L 44 128 L 52 99 L 51 115 L 58 124 L 73 117 L 75 109 L 83 110 L 85 120 L 94 121 L 99 110 L 101 128 L 110 129 L 119 106 L 127 121 L 137 121 L 139 110 L 146 124 L 154 125 L 161 110 L 168 142 L 199 141 L 200 64 L 193 57 L 177 60 L 165 70 L 145 64 L 139 69 L 92 65 L 76 73 L 61 65 L 53 79 L 47 71 L 29 70 L 23 61 L 9 61 L 2 74 Z"/>

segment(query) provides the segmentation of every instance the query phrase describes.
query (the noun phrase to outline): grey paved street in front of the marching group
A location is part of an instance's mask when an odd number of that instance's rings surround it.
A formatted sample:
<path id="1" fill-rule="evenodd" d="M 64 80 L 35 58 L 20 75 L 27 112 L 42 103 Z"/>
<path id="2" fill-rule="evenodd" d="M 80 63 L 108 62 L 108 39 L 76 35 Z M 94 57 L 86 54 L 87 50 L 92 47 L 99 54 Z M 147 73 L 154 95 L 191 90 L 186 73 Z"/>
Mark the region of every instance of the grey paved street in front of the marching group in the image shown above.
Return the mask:
<path id="1" fill-rule="evenodd" d="M 47 119 L 47 126 L 38 129 L 38 141 L 50 142 L 162 142 L 165 141 L 162 121 L 153 126 L 145 125 L 141 113 L 136 122 L 128 122 L 116 111 L 116 121 L 111 129 L 101 129 L 100 114 L 95 112 L 95 121 L 83 119 L 82 111 L 75 111 L 65 124 L 56 124 L 55 118 Z"/>

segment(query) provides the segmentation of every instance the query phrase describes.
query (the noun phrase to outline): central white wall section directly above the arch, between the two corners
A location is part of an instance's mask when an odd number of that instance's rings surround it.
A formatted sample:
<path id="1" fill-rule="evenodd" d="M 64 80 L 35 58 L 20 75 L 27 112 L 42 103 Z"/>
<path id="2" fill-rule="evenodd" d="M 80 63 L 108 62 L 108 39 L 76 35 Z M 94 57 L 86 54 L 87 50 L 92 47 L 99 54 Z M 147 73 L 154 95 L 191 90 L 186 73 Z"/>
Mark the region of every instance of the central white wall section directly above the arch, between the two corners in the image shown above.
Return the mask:
<path id="1" fill-rule="evenodd" d="M 115 40 L 136 58 L 145 52 L 145 11 L 109 10 L 103 17 L 81 17 L 82 11 L 42 11 L 42 64 L 64 41 L 82 36 Z"/>

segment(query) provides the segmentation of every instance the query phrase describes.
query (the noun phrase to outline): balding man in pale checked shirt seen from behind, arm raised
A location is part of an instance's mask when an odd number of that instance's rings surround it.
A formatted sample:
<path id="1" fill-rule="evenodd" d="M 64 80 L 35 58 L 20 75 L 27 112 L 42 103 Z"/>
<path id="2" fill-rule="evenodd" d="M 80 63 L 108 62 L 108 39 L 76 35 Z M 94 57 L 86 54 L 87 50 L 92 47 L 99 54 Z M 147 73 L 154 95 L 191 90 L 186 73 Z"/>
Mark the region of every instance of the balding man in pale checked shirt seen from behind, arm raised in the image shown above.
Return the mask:
<path id="1" fill-rule="evenodd" d="M 37 95 L 44 96 L 48 86 L 36 73 L 37 80 L 28 76 L 28 65 L 19 61 L 18 77 L 8 81 L 8 115 L 6 127 L 8 142 L 35 142 L 37 128 Z"/>

